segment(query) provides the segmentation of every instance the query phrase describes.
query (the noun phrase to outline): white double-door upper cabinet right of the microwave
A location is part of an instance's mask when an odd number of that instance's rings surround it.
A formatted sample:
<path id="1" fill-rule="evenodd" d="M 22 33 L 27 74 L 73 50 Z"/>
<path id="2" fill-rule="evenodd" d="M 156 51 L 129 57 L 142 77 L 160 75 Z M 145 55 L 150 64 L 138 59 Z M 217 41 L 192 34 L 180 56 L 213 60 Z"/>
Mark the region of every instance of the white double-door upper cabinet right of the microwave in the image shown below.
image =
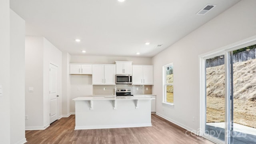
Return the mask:
<path id="1" fill-rule="evenodd" d="M 132 84 L 134 85 L 153 85 L 153 66 L 133 65 Z"/>

